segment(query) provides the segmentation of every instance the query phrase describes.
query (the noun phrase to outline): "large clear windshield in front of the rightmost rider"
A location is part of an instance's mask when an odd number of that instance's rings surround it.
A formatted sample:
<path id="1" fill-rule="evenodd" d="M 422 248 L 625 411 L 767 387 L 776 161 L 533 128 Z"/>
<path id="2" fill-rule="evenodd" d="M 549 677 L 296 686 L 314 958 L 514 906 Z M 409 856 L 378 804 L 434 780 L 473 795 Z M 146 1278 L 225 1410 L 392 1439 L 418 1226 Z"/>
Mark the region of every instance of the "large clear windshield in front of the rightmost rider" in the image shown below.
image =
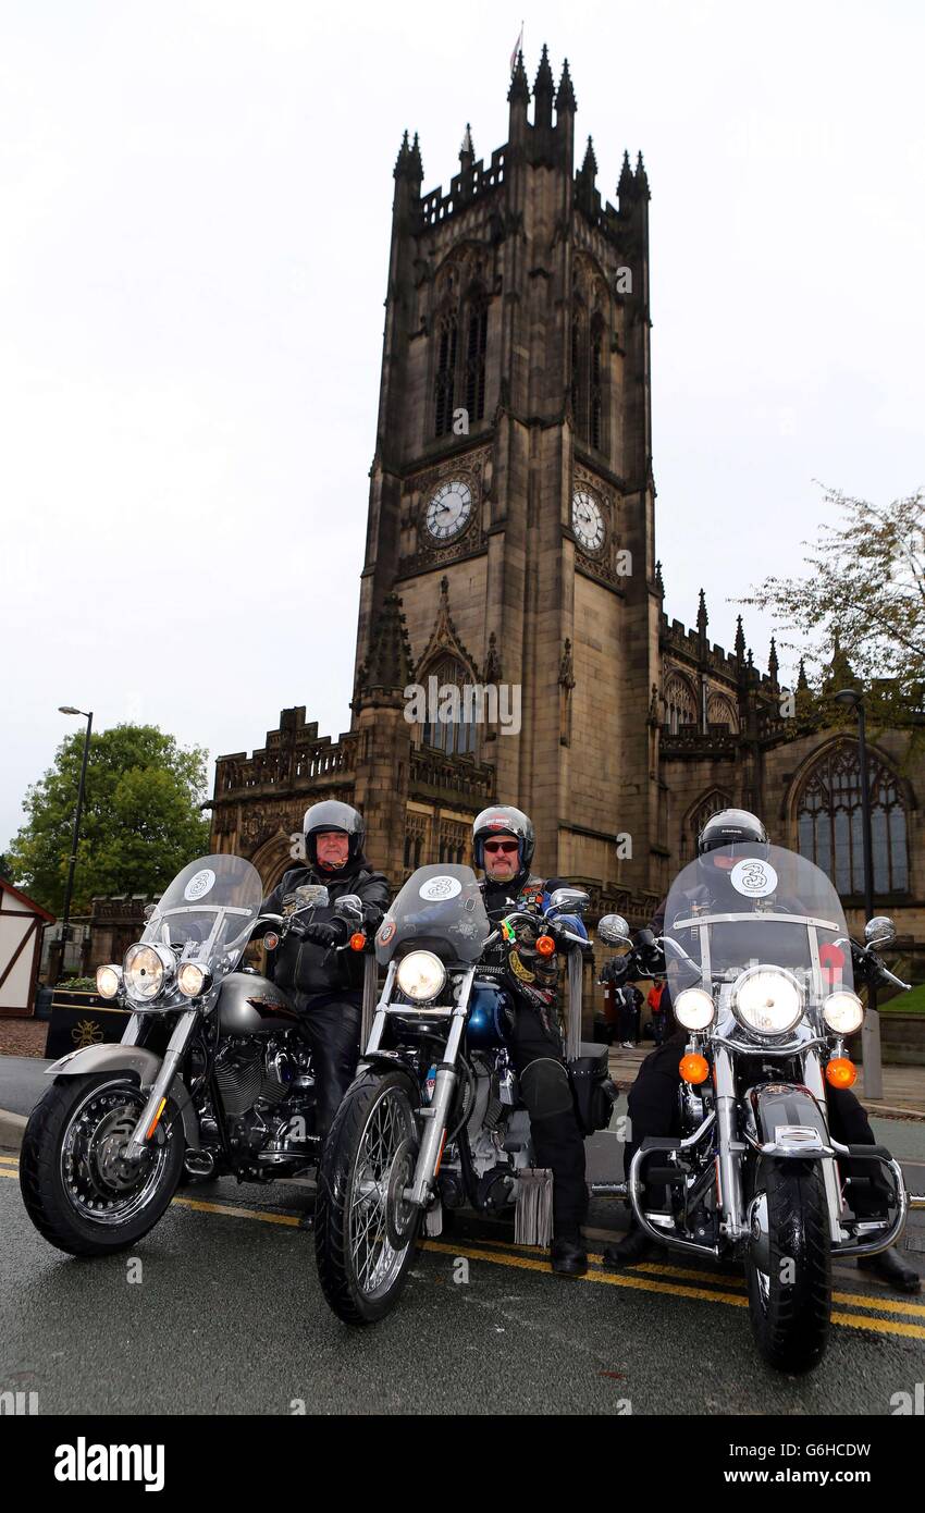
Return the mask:
<path id="1" fill-rule="evenodd" d="M 852 988 L 845 914 L 813 862 L 778 846 L 722 846 L 676 878 L 665 903 L 673 997 L 712 991 L 747 967 L 784 967 L 821 999 Z"/>

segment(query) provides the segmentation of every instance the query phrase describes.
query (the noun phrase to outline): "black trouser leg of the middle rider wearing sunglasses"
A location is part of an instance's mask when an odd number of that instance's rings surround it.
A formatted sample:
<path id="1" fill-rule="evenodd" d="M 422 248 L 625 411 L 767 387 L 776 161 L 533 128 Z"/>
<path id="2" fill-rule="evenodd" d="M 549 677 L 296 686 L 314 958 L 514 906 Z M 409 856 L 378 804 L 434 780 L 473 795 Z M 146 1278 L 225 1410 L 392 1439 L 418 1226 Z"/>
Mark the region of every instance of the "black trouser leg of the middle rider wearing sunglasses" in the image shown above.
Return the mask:
<path id="1" fill-rule="evenodd" d="M 531 1115 L 537 1165 L 549 1167 L 553 1174 L 553 1232 L 562 1236 L 583 1224 L 588 1212 L 585 1139 L 571 1082 L 558 1036 L 547 1033 L 535 1009 L 517 1005 L 508 1047 Z M 550 1061 L 558 1062 L 561 1071 L 543 1065 Z"/>

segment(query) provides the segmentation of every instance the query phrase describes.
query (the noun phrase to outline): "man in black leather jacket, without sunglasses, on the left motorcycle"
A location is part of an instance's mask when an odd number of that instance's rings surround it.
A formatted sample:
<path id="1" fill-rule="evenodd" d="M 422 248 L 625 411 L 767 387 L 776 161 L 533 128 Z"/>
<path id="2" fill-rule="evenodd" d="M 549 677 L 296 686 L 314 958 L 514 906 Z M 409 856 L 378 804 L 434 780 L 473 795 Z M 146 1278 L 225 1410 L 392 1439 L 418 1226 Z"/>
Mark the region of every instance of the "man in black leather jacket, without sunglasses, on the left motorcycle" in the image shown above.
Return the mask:
<path id="1" fill-rule="evenodd" d="M 316 1076 L 316 1130 L 326 1135 L 360 1056 L 363 1017 L 363 953 L 342 949 L 354 930 L 372 941 L 388 908 L 388 882 L 373 871 L 363 853 L 366 826 L 349 803 L 325 799 L 313 803 L 304 819 L 307 867 L 283 875 L 265 914 L 284 914 L 287 894 L 323 884 L 328 905 L 316 906 L 296 921 L 271 958 L 271 974 L 299 1011 L 311 1045 Z M 345 894 L 360 899 L 361 914 L 336 912 Z"/>

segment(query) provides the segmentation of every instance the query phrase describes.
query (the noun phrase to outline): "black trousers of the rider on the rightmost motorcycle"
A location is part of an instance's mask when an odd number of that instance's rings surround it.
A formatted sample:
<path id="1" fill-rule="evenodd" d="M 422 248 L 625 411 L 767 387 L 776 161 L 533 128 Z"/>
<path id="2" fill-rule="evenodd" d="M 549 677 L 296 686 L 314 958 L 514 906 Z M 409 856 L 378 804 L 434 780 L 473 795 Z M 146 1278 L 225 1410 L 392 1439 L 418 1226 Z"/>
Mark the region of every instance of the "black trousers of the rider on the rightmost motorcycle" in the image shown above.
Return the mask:
<path id="1" fill-rule="evenodd" d="M 677 1089 L 680 1085 L 679 1062 L 685 1053 L 686 1035 L 676 1030 L 664 1045 L 653 1050 L 639 1067 L 629 1092 L 630 1139 L 624 1145 L 623 1162 L 629 1177 L 633 1156 L 647 1135 L 680 1135 L 680 1109 Z M 848 1088 L 827 1088 L 828 1127 L 840 1145 L 875 1145 L 877 1138 L 863 1108 Z M 848 1176 L 871 1179 L 880 1168 L 875 1162 L 846 1162 Z M 851 1207 L 855 1213 L 860 1204 L 865 1212 L 883 1212 L 874 1191 L 852 1188 Z M 883 1188 L 881 1188 L 883 1192 Z"/>

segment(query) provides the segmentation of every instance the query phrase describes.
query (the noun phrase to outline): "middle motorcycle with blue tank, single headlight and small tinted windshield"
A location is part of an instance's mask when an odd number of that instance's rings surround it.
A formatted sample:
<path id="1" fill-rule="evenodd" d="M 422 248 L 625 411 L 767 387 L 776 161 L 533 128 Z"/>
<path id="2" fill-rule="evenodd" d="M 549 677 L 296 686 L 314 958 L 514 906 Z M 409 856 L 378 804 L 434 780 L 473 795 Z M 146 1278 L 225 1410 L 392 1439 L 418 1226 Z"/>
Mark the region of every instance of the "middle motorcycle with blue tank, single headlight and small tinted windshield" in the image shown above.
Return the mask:
<path id="1" fill-rule="evenodd" d="M 567 955 L 567 1056 L 585 1133 L 609 1121 L 615 1089 L 606 1047 L 580 1044 L 577 918 L 588 896 L 553 893 L 543 915 L 508 915 L 493 930 L 470 867 L 420 867 L 375 938 L 385 983 L 357 1077 L 319 1168 L 316 1256 L 325 1298 L 348 1324 L 372 1324 L 398 1303 L 423 1226 L 449 1213 L 514 1210 L 515 1239 L 550 1239 L 552 1174 L 534 1165 L 531 1127 L 505 1045 L 506 968 L 482 962 L 518 927 L 537 950 Z M 583 1055 L 583 1052 L 588 1055 Z"/>

